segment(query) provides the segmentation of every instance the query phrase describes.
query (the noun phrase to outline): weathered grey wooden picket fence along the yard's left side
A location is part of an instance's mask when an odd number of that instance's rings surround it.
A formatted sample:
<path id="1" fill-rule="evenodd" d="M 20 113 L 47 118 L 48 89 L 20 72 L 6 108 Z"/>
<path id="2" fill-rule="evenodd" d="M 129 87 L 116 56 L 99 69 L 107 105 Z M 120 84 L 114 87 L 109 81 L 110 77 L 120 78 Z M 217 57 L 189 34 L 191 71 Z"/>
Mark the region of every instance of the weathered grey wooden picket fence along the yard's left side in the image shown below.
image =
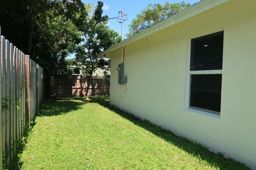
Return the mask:
<path id="1" fill-rule="evenodd" d="M 1 36 L 1 28 L 0 28 Z M 13 46 L 0 39 L 0 169 L 12 160 L 23 133 L 43 100 L 43 69 Z"/>

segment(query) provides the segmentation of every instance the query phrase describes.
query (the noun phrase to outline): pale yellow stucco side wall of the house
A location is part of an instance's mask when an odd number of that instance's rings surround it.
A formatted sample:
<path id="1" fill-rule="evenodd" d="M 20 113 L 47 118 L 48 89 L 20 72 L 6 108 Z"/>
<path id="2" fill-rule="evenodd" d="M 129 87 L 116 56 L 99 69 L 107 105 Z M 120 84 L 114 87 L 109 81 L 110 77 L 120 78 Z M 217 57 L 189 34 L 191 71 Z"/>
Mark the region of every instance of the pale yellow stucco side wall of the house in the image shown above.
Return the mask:
<path id="1" fill-rule="evenodd" d="M 232 0 L 111 53 L 110 104 L 256 168 L 256 1 Z M 190 40 L 224 31 L 220 117 L 188 107 Z"/>

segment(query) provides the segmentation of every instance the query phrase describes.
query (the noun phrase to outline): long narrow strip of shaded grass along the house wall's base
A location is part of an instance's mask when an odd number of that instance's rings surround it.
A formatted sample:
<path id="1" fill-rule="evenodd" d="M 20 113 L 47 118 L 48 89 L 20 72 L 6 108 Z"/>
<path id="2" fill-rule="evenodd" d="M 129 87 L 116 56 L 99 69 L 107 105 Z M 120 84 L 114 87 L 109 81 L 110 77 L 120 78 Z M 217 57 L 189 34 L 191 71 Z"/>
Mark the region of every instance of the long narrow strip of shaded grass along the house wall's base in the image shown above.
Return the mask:
<path id="1" fill-rule="evenodd" d="M 84 100 L 81 98 L 81 100 Z M 120 109 L 117 109 L 113 106 L 109 105 L 109 99 L 107 97 L 93 97 L 90 101 L 91 103 L 98 103 L 103 107 L 107 107 L 111 111 L 115 112 L 116 114 L 126 118 L 127 120 L 133 122 L 135 125 L 140 126 L 141 128 L 155 134 L 157 137 L 164 139 L 165 141 L 169 142 L 170 145 L 177 146 L 182 150 L 188 152 L 199 159 L 206 160 L 207 163 L 211 164 L 214 167 L 219 169 L 250 169 L 243 163 L 239 163 L 234 159 L 225 158 L 221 153 L 214 154 L 213 152 L 209 151 L 207 148 L 203 147 L 202 145 L 195 144 L 187 139 L 180 138 L 175 136 L 172 132 L 166 131 L 162 129 L 160 126 L 156 126 L 150 123 L 147 120 L 140 120 L 139 118 L 135 117 L 134 115 L 127 114 Z"/>

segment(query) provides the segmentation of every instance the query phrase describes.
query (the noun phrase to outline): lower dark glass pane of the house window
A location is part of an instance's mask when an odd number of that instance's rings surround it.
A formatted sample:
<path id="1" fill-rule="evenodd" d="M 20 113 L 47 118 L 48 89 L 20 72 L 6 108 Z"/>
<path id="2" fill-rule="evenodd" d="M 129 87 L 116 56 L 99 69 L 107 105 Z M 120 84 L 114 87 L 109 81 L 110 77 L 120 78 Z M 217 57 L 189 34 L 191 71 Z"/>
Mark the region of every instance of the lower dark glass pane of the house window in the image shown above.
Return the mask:
<path id="1" fill-rule="evenodd" d="M 220 112 L 221 74 L 193 74 L 190 84 L 190 107 Z"/>

